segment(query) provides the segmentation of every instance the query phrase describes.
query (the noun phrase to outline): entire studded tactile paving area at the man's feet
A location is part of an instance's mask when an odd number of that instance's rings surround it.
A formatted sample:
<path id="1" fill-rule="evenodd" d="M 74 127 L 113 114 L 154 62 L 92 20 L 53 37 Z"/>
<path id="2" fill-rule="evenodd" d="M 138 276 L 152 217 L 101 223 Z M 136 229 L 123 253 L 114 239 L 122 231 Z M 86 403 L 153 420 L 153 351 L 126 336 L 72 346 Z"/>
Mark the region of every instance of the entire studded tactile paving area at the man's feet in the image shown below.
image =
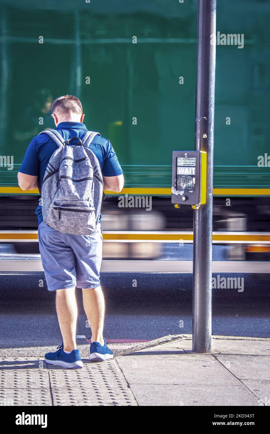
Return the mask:
<path id="1" fill-rule="evenodd" d="M 42 358 L 0 358 L 0 406 L 136 406 L 116 360 L 82 369 L 47 365 Z"/>

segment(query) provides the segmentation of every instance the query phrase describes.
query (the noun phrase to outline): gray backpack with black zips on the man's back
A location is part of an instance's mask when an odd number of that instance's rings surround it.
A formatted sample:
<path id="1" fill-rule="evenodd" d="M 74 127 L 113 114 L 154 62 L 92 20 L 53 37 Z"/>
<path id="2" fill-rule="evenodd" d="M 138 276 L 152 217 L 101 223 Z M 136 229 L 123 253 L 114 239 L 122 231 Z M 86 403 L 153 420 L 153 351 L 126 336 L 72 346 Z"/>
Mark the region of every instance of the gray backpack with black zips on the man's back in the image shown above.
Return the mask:
<path id="1" fill-rule="evenodd" d="M 48 134 L 59 146 L 42 181 L 43 220 L 63 233 L 91 235 L 99 220 L 103 179 L 98 158 L 88 146 L 100 134 L 87 131 L 82 140 L 73 137 L 66 141 L 57 130 L 39 134 Z"/>

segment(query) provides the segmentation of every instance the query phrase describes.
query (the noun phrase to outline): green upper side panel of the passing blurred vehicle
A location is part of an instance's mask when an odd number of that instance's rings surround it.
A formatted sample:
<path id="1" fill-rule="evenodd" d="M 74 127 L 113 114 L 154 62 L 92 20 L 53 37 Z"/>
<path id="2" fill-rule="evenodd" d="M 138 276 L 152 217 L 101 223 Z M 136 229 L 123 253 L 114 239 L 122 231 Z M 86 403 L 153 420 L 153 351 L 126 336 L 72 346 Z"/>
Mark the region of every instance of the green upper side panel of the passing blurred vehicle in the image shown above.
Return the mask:
<path id="1" fill-rule="evenodd" d="M 217 46 L 214 194 L 268 205 L 270 3 L 217 3 L 217 31 L 244 35 L 244 46 Z M 81 99 L 86 126 L 110 139 L 125 188 L 169 200 L 172 151 L 194 149 L 197 1 L 0 4 L 0 200 L 23 194 L 26 148 L 54 127 L 42 95 L 67 93 Z"/>

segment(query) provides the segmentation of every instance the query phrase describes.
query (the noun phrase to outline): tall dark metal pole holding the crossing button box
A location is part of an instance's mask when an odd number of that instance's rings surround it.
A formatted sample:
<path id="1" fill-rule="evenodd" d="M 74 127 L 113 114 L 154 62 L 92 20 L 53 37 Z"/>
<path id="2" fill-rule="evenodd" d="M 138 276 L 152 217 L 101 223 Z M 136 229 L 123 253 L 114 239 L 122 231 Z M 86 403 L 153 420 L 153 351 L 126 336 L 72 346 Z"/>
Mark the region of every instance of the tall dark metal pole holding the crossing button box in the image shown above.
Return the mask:
<path id="1" fill-rule="evenodd" d="M 193 222 L 192 350 L 199 353 L 211 351 L 215 35 L 216 0 L 198 0 L 195 150 L 207 152 L 206 204 Z"/>

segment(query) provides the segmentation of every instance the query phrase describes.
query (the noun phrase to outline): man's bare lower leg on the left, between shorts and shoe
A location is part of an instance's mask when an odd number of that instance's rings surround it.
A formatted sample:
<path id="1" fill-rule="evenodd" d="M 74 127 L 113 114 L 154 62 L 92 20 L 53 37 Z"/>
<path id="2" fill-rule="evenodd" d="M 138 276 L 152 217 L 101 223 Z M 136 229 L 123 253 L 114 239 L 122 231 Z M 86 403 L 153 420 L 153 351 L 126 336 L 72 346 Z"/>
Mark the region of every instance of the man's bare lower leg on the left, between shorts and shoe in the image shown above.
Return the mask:
<path id="1" fill-rule="evenodd" d="M 64 351 L 77 349 L 76 325 L 78 307 L 75 287 L 56 290 L 56 311 L 64 342 Z"/>

